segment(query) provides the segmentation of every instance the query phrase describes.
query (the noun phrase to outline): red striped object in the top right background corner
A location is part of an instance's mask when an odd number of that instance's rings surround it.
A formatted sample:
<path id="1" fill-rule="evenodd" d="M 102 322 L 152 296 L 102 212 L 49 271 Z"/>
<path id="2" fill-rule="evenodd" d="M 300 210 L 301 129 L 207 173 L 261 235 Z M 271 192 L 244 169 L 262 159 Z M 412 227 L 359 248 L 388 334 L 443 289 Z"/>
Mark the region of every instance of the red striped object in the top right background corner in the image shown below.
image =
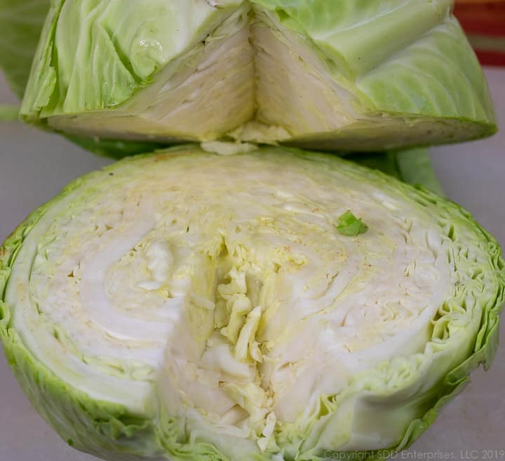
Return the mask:
<path id="1" fill-rule="evenodd" d="M 480 62 L 505 66 L 505 0 L 456 0 L 454 15 Z"/>

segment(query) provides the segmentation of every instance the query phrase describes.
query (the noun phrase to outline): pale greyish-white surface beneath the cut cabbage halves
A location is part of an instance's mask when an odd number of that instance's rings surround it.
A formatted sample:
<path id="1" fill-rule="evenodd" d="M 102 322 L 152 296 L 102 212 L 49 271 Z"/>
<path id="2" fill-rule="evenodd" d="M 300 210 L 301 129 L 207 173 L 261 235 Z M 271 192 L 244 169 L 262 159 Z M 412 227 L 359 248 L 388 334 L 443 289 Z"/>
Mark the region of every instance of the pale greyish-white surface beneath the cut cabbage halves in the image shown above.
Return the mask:
<path id="1" fill-rule="evenodd" d="M 487 69 L 501 126 L 505 127 L 505 70 Z M 0 104 L 15 102 L 0 79 Z M 58 135 L 21 123 L 0 122 L 0 241 L 36 206 L 67 182 L 111 161 Z M 505 246 L 505 128 L 489 140 L 431 150 L 450 199 L 467 208 Z M 505 322 L 501 324 L 501 337 Z M 492 369 L 472 383 L 398 460 L 505 460 L 505 347 Z M 489 450 L 489 451 L 487 451 Z M 492 450 L 498 450 L 494 452 Z M 501 450 L 501 451 L 500 451 Z M 345 459 L 345 458 L 342 458 Z M 0 354 L 0 461 L 92 461 L 48 427 L 22 394 Z"/>

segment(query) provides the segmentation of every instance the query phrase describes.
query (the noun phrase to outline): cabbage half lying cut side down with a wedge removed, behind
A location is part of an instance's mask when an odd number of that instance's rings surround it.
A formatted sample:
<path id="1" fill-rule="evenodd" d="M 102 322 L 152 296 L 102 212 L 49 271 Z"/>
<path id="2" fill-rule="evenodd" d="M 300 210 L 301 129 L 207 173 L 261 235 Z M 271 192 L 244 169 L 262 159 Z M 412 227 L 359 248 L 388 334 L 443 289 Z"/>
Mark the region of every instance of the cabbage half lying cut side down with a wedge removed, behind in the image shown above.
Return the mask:
<path id="1" fill-rule="evenodd" d="M 450 0 L 53 0 L 22 116 L 114 140 L 380 150 L 495 119 Z"/>

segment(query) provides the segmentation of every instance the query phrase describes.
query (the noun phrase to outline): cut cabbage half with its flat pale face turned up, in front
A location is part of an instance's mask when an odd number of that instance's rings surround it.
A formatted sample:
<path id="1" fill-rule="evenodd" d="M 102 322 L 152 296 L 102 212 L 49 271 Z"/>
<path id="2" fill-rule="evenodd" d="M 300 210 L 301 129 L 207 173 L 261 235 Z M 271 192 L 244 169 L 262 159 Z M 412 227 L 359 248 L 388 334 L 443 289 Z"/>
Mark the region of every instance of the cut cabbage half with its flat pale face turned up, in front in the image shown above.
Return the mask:
<path id="1" fill-rule="evenodd" d="M 404 448 L 490 365 L 505 284 L 454 203 L 276 147 L 90 173 L 0 263 L 20 385 L 68 443 L 121 461 Z"/>

